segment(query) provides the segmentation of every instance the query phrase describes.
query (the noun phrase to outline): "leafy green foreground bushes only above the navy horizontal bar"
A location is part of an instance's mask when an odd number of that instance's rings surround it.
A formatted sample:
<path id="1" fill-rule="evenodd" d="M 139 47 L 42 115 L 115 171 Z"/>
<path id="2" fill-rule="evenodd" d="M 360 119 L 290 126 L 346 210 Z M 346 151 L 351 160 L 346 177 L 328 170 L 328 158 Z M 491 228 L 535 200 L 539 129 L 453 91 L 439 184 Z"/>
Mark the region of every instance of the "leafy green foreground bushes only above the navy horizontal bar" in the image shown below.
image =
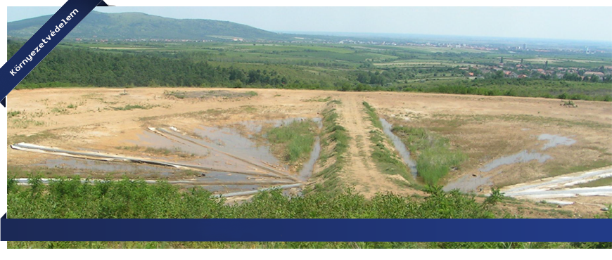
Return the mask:
<path id="1" fill-rule="evenodd" d="M 203 188 L 181 190 L 165 181 L 107 181 L 81 183 L 60 179 L 30 186 L 8 180 L 8 218 L 16 219 L 488 219 L 488 204 L 458 192 L 433 192 L 424 200 L 379 194 L 370 200 L 345 190 L 334 195 L 308 193 L 289 197 L 281 190 L 257 193 L 242 204 L 225 204 Z"/>

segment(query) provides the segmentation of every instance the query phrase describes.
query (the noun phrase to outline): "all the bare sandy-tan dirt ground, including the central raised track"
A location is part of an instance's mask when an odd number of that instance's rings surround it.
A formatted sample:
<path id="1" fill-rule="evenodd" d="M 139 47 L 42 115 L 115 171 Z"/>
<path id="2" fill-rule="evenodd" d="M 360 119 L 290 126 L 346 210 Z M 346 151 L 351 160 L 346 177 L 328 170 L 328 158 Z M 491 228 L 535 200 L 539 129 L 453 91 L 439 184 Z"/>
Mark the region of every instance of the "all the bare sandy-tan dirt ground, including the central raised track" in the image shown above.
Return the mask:
<path id="1" fill-rule="evenodd" d="M 167 95 L 169 91 L 213 90 L 241 94 L 224 93 L 218 98 Z M 247 91 L 255 91 L 257 96 L 242 94 Z M 398 186 L 394 176 L 377 171 L 370 155 L 369 130 L 373 126 L 364 119 L 362 100 L 394 125 L 424 127 L 449 138 L 469 159 L 442 179 L 442 184 L 474 175 L 486 178 L 487 185 L 481 187 L 480 193 L 476 190 L 478 194 L 487 193 L 491 186 L 511 186 L 612 165 L 612 103 L 576 101 L 578 108 L 565 108 L 559 105 L 561 100 L 552 99 L 429 93 L 191 88 L 17 90 L 9 95 L 8 142 L 153 157 L 155 153 L 151 151 L 146 154 L 145 150 L 119 148 L 134 146 L 149 126 L 175 126 L 189 134 L 201 125 L 237 127 L 246 121 L 320 117 L 326 103 L 317 100 L 327 97 L 343 102 L 338 105 L 340 124 L 351 137 L 348 168 L 340 178 L 368 196 L 385 191 L 419 192 Z M 538 140 L 542 134 L 570 138 L 575 143 L 542 150 L 547 145 L 546 140 Z M 523 150 L 550 158 L 482 171 L 493 161 Z M 178 154 L 169 156 L 180 159 Z M 53 158 L 8 149 L 9 167 L 27 168 Z M 579 210 L 585 216 L 599 211 L 599 205 L 612 202 L 610 197 L 590 198 L 568 198 L 580 204 L 563 207 Z M 590 203 L 597 206 L 588 206 Z"/>

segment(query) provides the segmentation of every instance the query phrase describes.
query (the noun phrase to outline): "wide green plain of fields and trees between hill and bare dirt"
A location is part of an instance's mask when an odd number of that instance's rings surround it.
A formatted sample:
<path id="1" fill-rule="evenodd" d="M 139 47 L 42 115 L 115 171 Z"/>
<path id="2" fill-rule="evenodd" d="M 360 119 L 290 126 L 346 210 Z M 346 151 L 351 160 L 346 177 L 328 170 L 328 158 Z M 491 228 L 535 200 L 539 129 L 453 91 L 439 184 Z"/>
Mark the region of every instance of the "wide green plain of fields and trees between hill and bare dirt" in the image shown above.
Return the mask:
<path id="1" fill-rule="evenodd" d="M 10 41 L 8 55 L 21 44 Z M 60 44 L 18 89 L 221 86 L 611 101 L 611 64 L 607 53 L 501 48 L 69 41 Z"/>

